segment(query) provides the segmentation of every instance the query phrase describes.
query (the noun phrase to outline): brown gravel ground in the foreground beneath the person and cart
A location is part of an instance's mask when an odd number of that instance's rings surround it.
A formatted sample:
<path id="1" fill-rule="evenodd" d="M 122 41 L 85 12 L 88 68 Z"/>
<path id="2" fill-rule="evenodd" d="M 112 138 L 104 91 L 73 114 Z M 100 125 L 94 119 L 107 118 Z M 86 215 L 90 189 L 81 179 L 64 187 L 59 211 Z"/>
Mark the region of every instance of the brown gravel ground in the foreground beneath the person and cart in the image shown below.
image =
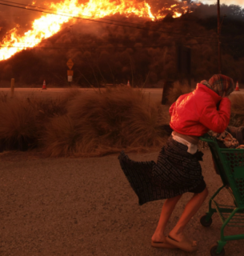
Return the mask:
<path id="1" fill-rule="evenodd" d="M 135 161 L 156 161 L 158 152 L 129 154 Z M 203 150 L 202 172 L 210 195 L 222 186 L 214 173 L 210 150 Z M 122 173 L 118 154 L 102 158 L 42 158 L 29 152 L 0 154 L 0 255 L 210 255 L 220 238 L 217 214 L 204 228 L 199 218 L 207 201 L 186 228 L 198 240 L 193 254 L 155 249 L 150 238 L 158 223 L 163 201 L 138 206 L 138 198 Z M 208 199 L 210 198 L 210 195 Z M 178 202 L 166 231 L 178 221 L 191 194 Z M 226 193 L 219 202 L 232 204 Z M 226 234 L 243 233 L 229 228 Z M 242 241 L 228 242 L 226 256 L 243 255 Z"/>

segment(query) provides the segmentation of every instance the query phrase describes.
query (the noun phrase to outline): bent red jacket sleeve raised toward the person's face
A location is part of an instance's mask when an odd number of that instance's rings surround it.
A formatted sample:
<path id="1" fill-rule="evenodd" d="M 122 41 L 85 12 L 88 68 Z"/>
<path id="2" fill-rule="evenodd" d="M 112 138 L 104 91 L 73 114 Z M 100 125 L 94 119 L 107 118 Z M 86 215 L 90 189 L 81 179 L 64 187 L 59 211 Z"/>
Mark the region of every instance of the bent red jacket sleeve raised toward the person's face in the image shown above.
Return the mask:
<path id="1" fill-rule="evenodd" d="M 204 105 L 206 107 L 203 109 L 202 114 L 200 114 L 199 122 L 215 133 L 221 134 L 226 130 L 230 122 L 230 99 L 222 98 L 219 110 L 217 110 L 214 102 L 210 100 L 205 101 Z"/>

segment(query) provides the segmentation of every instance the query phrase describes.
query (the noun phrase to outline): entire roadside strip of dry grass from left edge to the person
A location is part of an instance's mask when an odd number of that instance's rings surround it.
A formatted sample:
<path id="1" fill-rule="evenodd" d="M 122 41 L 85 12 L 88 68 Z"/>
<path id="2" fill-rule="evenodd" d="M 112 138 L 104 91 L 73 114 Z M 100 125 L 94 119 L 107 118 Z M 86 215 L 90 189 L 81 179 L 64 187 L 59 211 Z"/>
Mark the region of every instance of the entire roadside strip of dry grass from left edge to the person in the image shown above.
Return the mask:
<path id="1" fill-rule="evenodd" d="M 159 102 L 149 104 L 128 87 L 101 94 L 72 88 L 62 98 L 46 100 L 2 96 L 0 104 L 0 141 L 6 150 L 29 145 L 50 157 L 91 157 L 158 150 L 166 141 L 167 114 Z"/>

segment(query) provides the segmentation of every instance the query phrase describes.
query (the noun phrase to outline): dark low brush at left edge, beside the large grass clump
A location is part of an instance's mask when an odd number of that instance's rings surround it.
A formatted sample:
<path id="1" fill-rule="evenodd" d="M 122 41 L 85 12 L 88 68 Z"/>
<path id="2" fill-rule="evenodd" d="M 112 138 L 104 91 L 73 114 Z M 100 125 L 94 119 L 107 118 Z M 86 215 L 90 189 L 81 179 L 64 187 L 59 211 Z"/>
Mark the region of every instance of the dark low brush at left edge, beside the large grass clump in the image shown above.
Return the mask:
<path id="1" fill-rule="evenodd" d="M 66 114 L 66 103 L 77 94 L 75 89 L 56 99 L 0 94 L 0 152 L 39 146 L 51 118 Z"/>

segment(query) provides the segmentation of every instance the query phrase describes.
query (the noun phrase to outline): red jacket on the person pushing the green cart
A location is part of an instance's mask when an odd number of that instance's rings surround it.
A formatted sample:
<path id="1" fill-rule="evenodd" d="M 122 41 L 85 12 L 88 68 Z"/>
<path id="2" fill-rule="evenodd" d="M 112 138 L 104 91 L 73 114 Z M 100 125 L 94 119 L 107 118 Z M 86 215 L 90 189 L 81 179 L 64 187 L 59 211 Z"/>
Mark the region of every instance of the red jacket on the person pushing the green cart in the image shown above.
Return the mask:
<path id="1" fill-rule="evenodd" d="M 217 104 L 220 102 L 217 110 Z M 170 106 L 170 127 L 179 134 L 202 136 L 209 130 L 222 133 L 230 122 L 230 99 L 198 83 Z"/>

